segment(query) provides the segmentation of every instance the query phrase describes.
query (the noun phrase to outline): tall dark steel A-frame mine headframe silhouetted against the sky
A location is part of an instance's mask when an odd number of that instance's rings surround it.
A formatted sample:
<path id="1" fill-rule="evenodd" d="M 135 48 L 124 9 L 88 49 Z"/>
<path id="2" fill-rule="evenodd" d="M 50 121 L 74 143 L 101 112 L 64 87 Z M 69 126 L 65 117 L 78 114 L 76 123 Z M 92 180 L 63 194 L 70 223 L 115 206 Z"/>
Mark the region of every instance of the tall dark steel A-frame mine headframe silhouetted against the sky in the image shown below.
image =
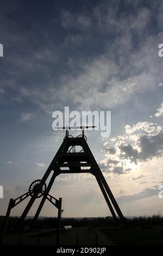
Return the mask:
<path id="1" fill-rule="evenodd" d="M 86 126 L 87 127 L 87 126 Z M 81 127 L 82 128 L 82 127 Z M 79 152 L 76 152 L 74 149 L 76 146 L 82 147 L 82 150 Z M 68 168 L 67 168 L 68 167 Z M 42 186 L 45 184 L 48 176 L 52 174 L 52 177 L 47 185 L 46 190 L 43 192 L 42 200 L 40 202 L 39 208 L 36 211 L 36 214 L 34 216 L 34 219 L 32 221 L 32 226 L 34 225 L 35 221 L 37 220 L 37 217 L 39 217 L 40 211 L 43 207 L 43 204 L 45 203 L 45 200 L 48 198 L 49 191 L 51 190 L 51 187 L 54 183 L 55 178 L 61 174 L 61 173 L 91 173 L 95 176 L 99 187 L 101 188 L 101 191 L 103 193 L 103 196 L 105 198 L 106 204 L 109 207 L 109 210 L 112 214 L 112 217 L 114 218 L 116 224 L 119 223 L 119 220 L 117 218 L 117 215 L 120 219 L 120 221 L 123 224 L 126 224 L 126 218 L 124 218 L 120 207 L 118 206 L 115 197 L 113 196 L 102 172 L 99 168 L 95 157 L 93 156 L 89 145 L 86 142 L 86 136 L 84 135 L 84 129 L 82 135 L 79 135 L 77 137 L 73 137 L 69 135 L 68 130 L 66 130 L 66 136 L 64 137 L 64 141 L 61 143 L 61 146 L 57 152 L 57 154 L 54 156 L 54 159 L 52 160 L 51 164 L 49 165 L 48 169 L 46 170 L 46 173 L 43 175 L 42 180 L 39 183 L 39 186 L 41 189 Z M 35 199 L 37 197 L 37 192 L 33 194 L 33 197 L 29 200 L 29 203 L 27 204 L 26 208 L 23 211 L 23 214 L 20 217 L 18 225 L 21 225 L 24 221 L 24 218 L 26 218 L 30 208 L 32 207 L 33 203 L 35 202 Z M 111 204 L 112 203 L 112 204 Z M 117 213 L 117 214 L 116 214 Z"/>

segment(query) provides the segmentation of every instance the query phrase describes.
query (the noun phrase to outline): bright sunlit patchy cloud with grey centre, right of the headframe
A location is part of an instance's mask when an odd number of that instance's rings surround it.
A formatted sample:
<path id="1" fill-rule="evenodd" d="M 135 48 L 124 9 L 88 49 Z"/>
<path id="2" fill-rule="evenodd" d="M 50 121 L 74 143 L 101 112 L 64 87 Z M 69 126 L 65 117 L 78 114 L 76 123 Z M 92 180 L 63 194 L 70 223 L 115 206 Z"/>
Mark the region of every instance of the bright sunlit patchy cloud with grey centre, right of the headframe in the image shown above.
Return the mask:
<path id="1" fill-rule="evenodd" d="M 105 157 L 99 161 L 103 172 L 127 174 L 153 157 L 163 155 L 163 126 L 138 122 L 126 125 L 125 129 L 126 135 L 109 139 L 109 146 L 104 148 Z"/>

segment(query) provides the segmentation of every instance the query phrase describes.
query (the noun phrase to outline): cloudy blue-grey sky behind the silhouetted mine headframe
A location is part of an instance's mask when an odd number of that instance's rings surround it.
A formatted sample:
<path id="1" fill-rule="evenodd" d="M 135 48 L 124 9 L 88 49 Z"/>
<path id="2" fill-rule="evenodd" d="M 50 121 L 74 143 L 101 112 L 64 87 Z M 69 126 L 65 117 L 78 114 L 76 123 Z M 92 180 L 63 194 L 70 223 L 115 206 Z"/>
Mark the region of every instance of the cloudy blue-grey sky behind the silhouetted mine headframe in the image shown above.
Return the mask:
<path id="1" fill-rule="evenodd" d="M 65 106 L 111 111 L 110 136 L 86 131 L 87 143 L 125 216 L 163 215 L 162 29 L 161 0 L 0 0 L 0 215 L 46 172 Z M 91 174 L 59 175 L 51 194 L 63 217 L 110 216 Z M 41 216 L 57 210 L 46 202 Z"/>

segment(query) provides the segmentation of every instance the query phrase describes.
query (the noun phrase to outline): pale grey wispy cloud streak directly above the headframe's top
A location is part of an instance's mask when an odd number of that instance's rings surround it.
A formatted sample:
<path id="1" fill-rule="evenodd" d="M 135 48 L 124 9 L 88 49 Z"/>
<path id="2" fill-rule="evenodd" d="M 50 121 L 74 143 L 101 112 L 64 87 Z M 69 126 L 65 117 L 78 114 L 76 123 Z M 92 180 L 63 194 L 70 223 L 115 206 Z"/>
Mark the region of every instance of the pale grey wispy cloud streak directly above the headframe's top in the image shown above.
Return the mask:
<path id="1" fill-rule="evenodd" d="M 91 63 L 78 64 L 76 70 L 78 69 L 80 71 L 75 76 L 73 73 L 62 74 L 56 85 L 57 89 L 49 86 L 40 91 L 38 88 L 30 90 L 20 87 L 19 94 L 47 113 L 52 113 L 54 109 L 62 109 L 63 106 L 82 110 L 113 107 L 126 102 L 137 89 L 136 86 L 131 86 L 133 81 L 128 78 L 118 78 L 120 70 L 108 57 L 101 56 Z M 122 91 L 124 86 L 127 92 Z"/>

